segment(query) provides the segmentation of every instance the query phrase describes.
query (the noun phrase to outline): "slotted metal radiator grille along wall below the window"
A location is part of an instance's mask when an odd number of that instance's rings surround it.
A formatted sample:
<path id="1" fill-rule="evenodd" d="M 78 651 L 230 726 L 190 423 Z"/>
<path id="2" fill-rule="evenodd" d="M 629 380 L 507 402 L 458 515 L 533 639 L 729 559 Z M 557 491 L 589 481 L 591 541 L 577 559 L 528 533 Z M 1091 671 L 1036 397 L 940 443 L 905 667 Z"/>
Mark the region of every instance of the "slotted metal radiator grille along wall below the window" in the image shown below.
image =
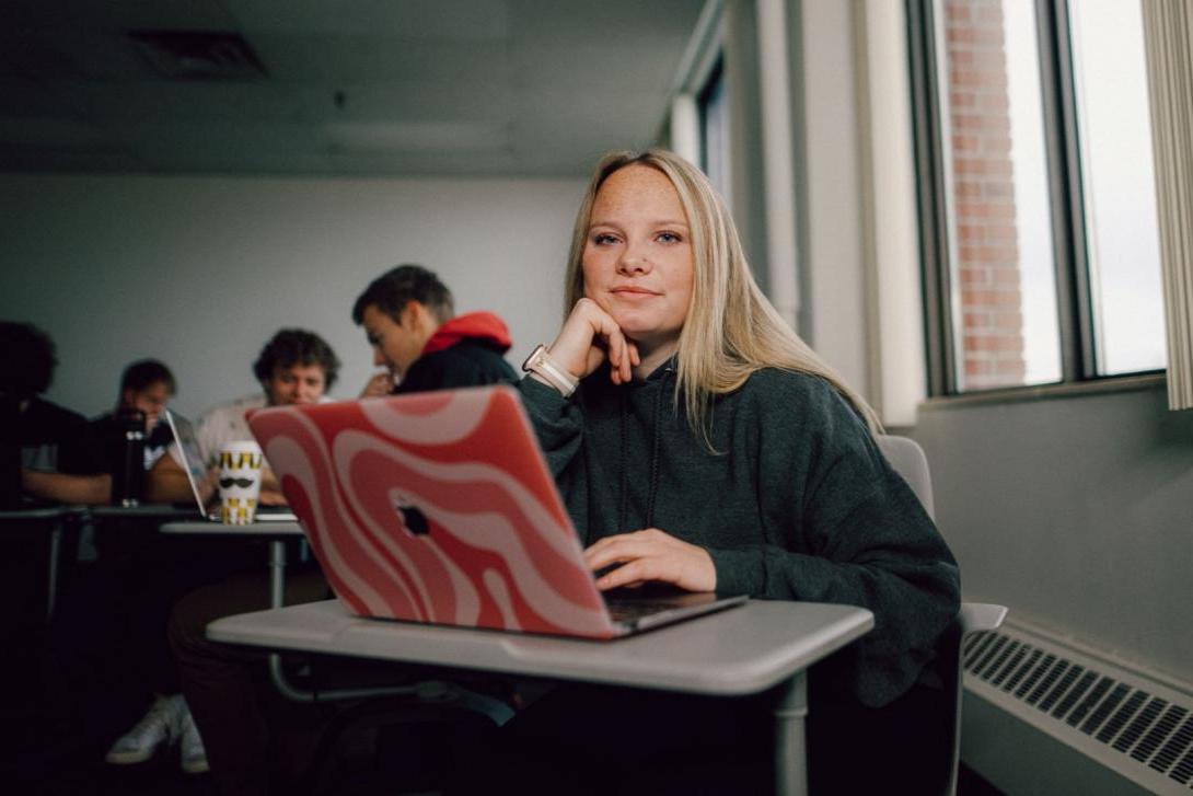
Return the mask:
<path id="1" fill-rule="evenodd" d="M 965 686 L 1154 792 L 1193 791 L 1193 696 L 1019 628 L 972 634 Z"/>

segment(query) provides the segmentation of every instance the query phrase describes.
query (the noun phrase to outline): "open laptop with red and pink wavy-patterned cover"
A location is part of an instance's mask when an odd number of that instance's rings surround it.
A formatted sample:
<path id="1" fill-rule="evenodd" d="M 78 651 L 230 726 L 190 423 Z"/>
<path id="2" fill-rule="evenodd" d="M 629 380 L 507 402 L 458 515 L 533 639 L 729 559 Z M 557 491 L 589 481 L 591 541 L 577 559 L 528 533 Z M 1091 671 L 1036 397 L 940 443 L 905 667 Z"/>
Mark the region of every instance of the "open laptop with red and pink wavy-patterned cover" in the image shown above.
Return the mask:
<path id="1" fill-rule="evenodd" d="M 271 407 L 248 425 L 359 616 L 616 638 L 746 601 L 606 600 L 508 385 Z"/>

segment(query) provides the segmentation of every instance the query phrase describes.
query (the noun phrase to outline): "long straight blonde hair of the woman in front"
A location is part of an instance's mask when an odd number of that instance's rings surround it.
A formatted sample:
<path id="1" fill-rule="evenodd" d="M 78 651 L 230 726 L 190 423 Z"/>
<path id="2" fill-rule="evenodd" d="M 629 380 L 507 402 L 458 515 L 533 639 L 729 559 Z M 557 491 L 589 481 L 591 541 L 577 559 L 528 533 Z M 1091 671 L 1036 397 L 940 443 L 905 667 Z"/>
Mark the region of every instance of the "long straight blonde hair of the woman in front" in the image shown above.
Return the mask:
<path id="1" fill-rule="evenodd" d="M 691 229 L 694 274 L 679 337 L 675 401 L 678 406 L 682 396 L 693 432 L 711 448 L 715 397 L 738 389 L 756 370 L 779 368 L 823 378 L 857 409 L 871 433 L 878 433 L 880 424 L 870 405 L 799 339 L 759 289 L 733 218 L 709 179 L 665 149 L 612 152 L 596 165 L 571 236 L 564 316 L 585 295 L 582 261 L 596 192 L 613 172 L 635 163 L 670 180 Z"/>

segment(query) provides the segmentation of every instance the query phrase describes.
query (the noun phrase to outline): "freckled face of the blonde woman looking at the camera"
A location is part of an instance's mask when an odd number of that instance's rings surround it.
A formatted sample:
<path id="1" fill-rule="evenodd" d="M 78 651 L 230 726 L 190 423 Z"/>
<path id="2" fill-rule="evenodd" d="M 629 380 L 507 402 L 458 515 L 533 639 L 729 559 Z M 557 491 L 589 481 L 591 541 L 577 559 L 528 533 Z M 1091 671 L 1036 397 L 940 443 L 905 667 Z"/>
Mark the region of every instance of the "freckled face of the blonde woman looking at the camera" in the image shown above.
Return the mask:
<path id="1" fill-rule="evenodd" d="M 692 300 L 691 230 L 667 177 L 635 163 L 596 192 L 582 259 L 585 296 L 643 353 L 674 348 Z"/>

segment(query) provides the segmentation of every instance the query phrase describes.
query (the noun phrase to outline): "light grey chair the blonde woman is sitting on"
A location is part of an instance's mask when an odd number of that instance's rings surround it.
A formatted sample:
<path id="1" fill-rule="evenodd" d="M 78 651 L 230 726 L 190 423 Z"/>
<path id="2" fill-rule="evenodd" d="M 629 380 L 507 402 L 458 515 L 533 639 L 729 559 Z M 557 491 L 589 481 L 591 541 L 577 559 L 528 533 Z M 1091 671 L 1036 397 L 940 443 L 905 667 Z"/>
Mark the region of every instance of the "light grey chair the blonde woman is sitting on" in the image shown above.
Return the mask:
<path id="1" fill-rule="evenodd" d="M 932 474 L 928 470 L 928 457 L 923 449 L 914 439 L 908 437 L 895 437 L 882 434 L 878 437 L 878 448 L 883 451 L 886 461 L 896 473 L 903 476 L 911 490 L 915 492 L 928 517 L 935 516 L 935 506 L 932 499 Z M 962 673 L 962 649 L 965 637 L 971 633 L 983 630 L 996 630 L 1002 625 L 1002 619 L 1007 616 L 1007 609 L 1002 605 L 989 603 L 962 603 L 962 609 L 953 619 L 940 643 L 941 666 L 940 672 L 945 678 L 945 691 L 954 703 L 953 709 L 953 738 L 950 749 L 948 786 L 946 796 L 954 796 L 957 792 L 957 769 L 960 763 L 962 751 L 962 690 L 964 677 Z"/>

